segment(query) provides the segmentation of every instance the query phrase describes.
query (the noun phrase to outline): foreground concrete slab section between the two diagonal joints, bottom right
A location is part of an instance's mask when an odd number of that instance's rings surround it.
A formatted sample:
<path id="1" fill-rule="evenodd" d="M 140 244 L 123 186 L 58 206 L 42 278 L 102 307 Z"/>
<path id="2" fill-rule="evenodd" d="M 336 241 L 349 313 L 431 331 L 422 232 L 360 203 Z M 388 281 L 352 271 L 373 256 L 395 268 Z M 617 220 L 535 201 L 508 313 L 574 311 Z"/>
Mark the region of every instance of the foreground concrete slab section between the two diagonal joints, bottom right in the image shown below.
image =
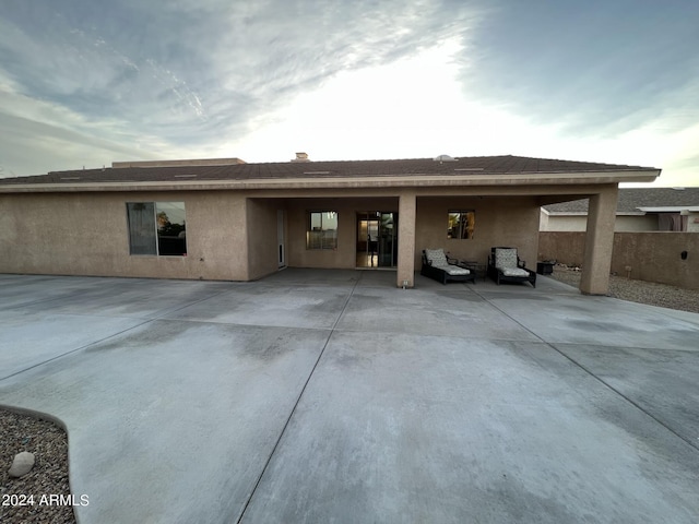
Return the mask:
<path id="1" fill-rule="evenodd" d="M 697 450 L 540 350 L 333 334 L 242 522 L 690 522 Z"/>

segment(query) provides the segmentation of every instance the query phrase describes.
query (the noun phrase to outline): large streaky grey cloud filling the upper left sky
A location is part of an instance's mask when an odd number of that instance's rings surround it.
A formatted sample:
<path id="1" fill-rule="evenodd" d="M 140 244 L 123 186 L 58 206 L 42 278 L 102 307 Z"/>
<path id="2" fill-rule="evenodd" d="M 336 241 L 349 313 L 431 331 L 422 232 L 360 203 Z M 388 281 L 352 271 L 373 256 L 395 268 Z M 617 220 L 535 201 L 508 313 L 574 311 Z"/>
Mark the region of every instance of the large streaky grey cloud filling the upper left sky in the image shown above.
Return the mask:
<path id="1" fill-rule="evenodd" d="M 81 117 L 51 126 L 204 152 L 344 72 L 463 33 L 476 14 L 430 0 L 13 2 L 0 5 L 0 78 L 25 102 Z"/>

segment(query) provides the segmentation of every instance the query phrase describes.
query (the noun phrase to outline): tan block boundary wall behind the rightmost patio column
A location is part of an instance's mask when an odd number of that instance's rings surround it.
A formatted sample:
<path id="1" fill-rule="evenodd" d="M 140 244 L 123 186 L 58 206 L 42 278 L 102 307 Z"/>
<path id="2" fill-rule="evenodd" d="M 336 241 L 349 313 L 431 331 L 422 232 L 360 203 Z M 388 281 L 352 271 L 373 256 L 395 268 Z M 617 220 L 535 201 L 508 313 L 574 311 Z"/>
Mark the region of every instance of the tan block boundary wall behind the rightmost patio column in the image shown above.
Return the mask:
<path id="1" fill-rule="evenodd" d="M 580 265 L 585 246 L 584 231 L 542 231 L 538 260 L 555 259 Z M 687 258 L 683 260 L 683 251 Z M 686 289 L 699 289 L 699 234 L 674 231 L 615 233 L 612 273 L 657 282 Z"/>

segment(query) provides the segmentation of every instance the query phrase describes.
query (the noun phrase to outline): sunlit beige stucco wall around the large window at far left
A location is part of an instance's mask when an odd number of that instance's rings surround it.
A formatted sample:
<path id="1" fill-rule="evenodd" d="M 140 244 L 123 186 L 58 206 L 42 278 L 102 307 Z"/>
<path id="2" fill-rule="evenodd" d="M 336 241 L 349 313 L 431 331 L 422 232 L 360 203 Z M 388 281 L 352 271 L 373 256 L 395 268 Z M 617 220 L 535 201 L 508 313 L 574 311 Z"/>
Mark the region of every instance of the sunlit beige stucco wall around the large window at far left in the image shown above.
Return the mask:
<path id="1" fill-rule="evenodd" d="M 126 202 L 185 202 L 187 257 L 130 255 Z M 247 279 L 246 201 L 232 192 L 0 194 L 0 272 Z"/>

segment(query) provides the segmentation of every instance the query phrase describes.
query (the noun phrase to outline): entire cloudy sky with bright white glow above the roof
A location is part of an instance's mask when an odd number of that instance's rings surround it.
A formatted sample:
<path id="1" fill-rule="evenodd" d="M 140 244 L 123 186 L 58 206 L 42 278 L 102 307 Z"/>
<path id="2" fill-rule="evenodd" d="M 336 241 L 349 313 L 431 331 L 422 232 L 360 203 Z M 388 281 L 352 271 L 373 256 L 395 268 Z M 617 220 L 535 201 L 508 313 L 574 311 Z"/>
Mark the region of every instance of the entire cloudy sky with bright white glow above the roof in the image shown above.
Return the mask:
<path id="1" fill-rule="evenodd" d="M 0 0 L 0 177 L 518 155 L 699 186 L 697 0 Z"/>

